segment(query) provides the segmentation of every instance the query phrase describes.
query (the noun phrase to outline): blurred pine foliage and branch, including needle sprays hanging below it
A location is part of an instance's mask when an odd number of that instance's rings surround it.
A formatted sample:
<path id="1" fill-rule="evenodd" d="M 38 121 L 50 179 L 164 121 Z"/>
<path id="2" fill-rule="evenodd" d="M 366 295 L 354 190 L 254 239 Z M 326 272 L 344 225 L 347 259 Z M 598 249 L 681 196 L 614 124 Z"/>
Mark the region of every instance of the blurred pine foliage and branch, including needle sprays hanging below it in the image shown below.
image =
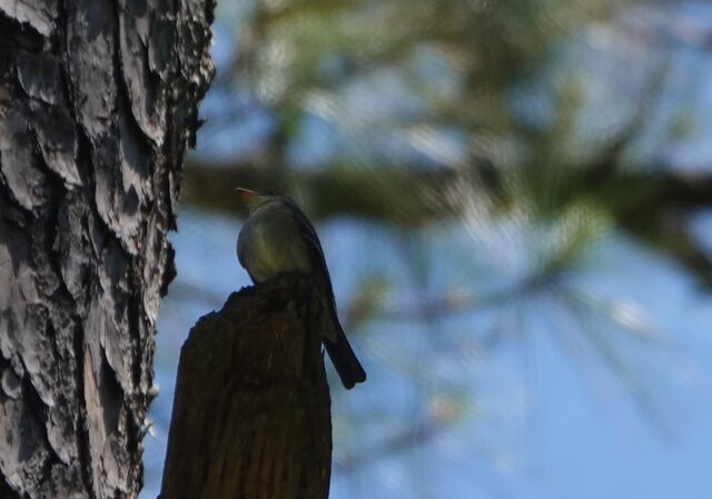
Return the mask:
<path id="1" fill-rule="evenodd" d="M 544 297 L 657 420 L 646 378 L 626 352 L 630 341 L 664 341 L 644 312 L 582 290 L 572 276 L 602 238 L 621 232 L 712 285 L 712 261 L 689 226 L 712 203 L 712 169 L 684 168 L 670 152 L 699 119 L 686 100 L 694 80 L 680 83 L 686 69 L 678 54 L 704 50 L 676 22 L 675 6 L 222 2 L 219 72 L 201 149 L 185 170 L 185 200 L 241 213 L 231 187 L 269 187 L 295 196 L 315 219 L 348 214 L 388 227 L 412 289 L 364 279 L 343 310 L 349 329 L 417 320 L 436 345 L 466 357 L 502 331 L 517 335 L 522 308 L 512 307 Z M 462 244 L 451 239 L 463 232 L 476 257 L 456 257 Z M 514 278 L 488 278 L 483 255 Z M 443 286 L 436 277 L 448 265 L 453 282 Z M 441 331 L 444 316 L 492 310 L 500 315 L 491 328 L 473 328 L 471 339 Z M 365 341 L 374 359 L 426 383 L 402 345 Z M 451 378 L 427 383 L 429 409 L 406 422 L 386 416 L 383 400 L 368 407 L 393 430 L 373 452 L 423 441 L 475 407 L 464 402 L 469 388 Z M 340 415 L 337 433 L 339 425 L 372 435 L 357 415 Z M 338 466 L 368 456 L 350 449 Z"/>

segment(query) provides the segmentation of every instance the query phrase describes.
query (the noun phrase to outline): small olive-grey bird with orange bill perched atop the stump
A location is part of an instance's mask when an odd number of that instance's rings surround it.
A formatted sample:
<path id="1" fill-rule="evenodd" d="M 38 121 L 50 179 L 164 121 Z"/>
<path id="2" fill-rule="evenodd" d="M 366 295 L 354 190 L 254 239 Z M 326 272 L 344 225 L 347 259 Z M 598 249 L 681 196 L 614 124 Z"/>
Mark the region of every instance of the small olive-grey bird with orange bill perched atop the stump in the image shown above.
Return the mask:
<path id="1" fill-rule="evenodd" d="M 366 381 L 366 371 L 348 343 L 336 311 L 332 278 L 322 243 L 296 201 L 266 189 L 237 188 L 248 217 L 237 238 L 237 259 L 255 285 L 279 273 L 313 279 L 325 300 L 322 342 L 342 383 L 352 389 Z"/>

